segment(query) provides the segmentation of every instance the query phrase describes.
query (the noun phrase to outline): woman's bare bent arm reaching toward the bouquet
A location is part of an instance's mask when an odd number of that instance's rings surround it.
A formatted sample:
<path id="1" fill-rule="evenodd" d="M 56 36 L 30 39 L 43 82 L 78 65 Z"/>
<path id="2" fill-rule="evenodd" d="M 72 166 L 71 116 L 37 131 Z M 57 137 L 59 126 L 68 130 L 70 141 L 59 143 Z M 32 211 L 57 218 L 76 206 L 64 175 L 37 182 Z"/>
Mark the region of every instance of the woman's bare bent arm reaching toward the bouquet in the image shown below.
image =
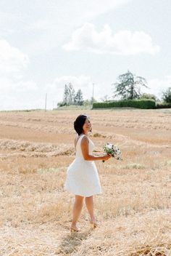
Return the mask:
<path id="1" fill-rule="evenodd" d="M 90 155 L 88 152 L 88 143 L 89 143 L 88 137 L 84 136 L 83 139 L 81 140 L 81 144 L 80 144 L 84 160 L 86 160 L 86 161 L 94 161 L 94 160 L 107 161 L 111 157 L 110 155 L 104 155 L 104 156 Z"/>

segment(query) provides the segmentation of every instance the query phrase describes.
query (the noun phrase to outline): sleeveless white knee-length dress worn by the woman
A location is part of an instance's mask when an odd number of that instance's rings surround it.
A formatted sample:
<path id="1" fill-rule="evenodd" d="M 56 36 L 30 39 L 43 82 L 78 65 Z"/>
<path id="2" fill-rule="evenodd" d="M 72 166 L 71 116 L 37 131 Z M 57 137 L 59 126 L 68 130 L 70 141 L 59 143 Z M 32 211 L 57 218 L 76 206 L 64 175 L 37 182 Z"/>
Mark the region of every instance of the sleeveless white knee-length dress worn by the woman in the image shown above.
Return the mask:
<path id="1" fill-rule="evenodd" d="M 94 161 L 86 161 L 83 158 L 80 143 L 83 137 L 81 135 L 76 145 L 76 157 L 72 164 L 67 168 L 67 178 L 64 188 L 77 196 L 93 196 L 101 193 L 99 174 Z M 89 140 L 88 151 L 93 153 L 93 142 Z"/>

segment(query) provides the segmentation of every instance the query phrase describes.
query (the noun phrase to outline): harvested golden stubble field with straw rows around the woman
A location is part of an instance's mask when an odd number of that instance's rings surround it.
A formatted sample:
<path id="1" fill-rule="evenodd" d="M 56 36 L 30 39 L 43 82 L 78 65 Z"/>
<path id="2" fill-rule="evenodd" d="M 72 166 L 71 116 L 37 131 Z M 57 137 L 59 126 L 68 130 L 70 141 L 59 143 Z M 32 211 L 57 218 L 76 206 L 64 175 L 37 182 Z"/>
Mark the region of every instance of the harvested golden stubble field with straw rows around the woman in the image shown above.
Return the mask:
<path id="1" fill-rule="evenodd" d="M 73 121 L 91 117 L 95 154 L 109 142 L 123 161 L 96 161 L 98 228 L 86 207 L 70 235 Z M 0 112 L 0 255 L 171 255 L 171 111 Z"/>

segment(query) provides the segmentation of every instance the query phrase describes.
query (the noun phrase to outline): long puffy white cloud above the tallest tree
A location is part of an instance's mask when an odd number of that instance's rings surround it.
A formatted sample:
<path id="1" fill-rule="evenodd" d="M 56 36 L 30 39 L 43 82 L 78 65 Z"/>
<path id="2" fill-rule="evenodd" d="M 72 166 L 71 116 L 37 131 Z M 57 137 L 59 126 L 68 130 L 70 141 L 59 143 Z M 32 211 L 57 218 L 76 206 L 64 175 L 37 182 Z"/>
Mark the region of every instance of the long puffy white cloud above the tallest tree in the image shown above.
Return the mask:
<path id="1" fill-rule="evenodd" d="M 119 31 L 112 34 L 109 25 L 104 25 L 101 32 L 91 23 L 85 23 L 72 33 L 72 39 L 64 44 L 68 51 L 86 50 L 95 53 L 116 55 L 135 55 L 141 52 L 155 54 L 159 46 L 152 43 L 151 36 L 143 31 Z"/>

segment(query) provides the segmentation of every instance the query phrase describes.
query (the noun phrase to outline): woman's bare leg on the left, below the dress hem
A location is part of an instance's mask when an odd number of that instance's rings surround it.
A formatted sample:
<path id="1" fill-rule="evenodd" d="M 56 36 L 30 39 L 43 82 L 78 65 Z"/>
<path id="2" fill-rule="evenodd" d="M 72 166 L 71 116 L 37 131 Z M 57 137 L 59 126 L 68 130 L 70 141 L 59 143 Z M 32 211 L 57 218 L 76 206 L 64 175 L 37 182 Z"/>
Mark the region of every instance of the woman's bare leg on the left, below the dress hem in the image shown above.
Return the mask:
<path id="1" fill-rule="evenodd" d="M 76 228 L 78 218 L 80 217 L 80 212 L 83 207 L 83 196 L 75 196 L 75 203 L 73 207 L 73 218 L 71 226 Z"/>

